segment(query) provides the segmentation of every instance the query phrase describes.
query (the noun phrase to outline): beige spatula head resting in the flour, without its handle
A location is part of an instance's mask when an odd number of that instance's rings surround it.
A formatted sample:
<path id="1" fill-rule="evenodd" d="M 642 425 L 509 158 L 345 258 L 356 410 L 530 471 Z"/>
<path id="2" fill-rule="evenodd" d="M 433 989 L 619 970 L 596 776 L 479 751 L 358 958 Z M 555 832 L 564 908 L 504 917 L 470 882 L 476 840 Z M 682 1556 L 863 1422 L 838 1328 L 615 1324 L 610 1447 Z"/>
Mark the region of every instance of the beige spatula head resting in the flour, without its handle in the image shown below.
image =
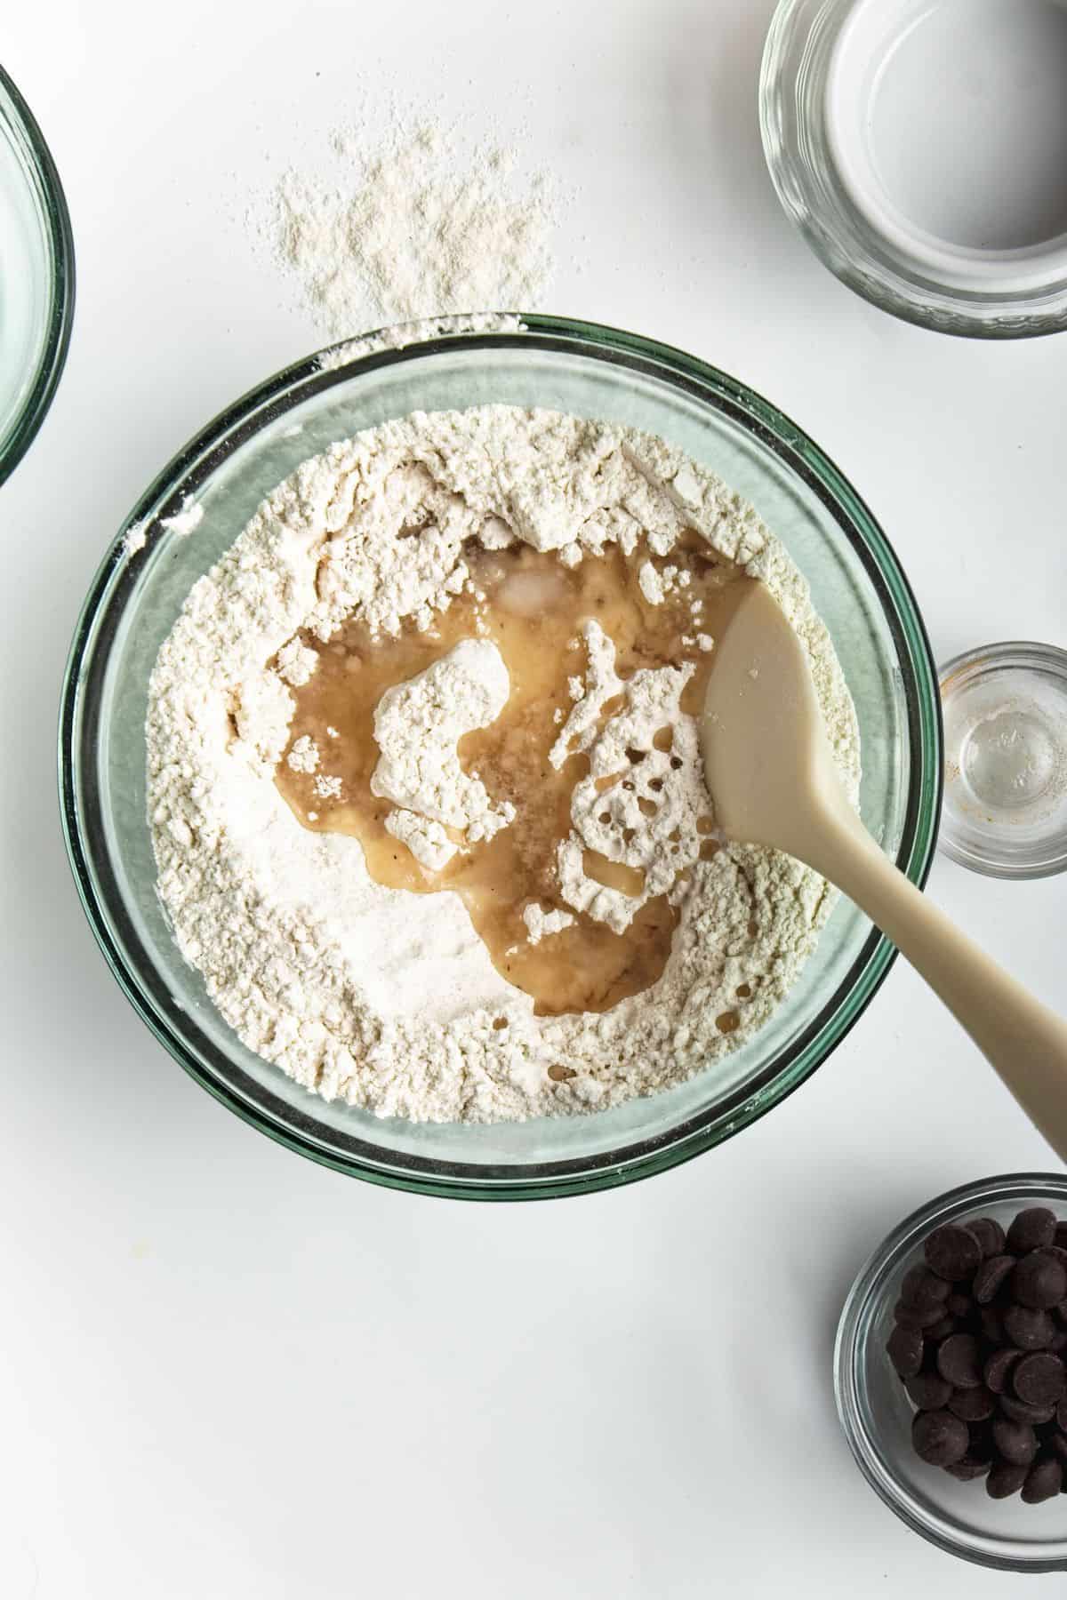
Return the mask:
<path id="1" fill-rule="evenodd" d="M 728 838 L 801 856 L 840 784 L 800 637 L 753 582 L 715 646 L 701 717 L 715 821 Z"/>

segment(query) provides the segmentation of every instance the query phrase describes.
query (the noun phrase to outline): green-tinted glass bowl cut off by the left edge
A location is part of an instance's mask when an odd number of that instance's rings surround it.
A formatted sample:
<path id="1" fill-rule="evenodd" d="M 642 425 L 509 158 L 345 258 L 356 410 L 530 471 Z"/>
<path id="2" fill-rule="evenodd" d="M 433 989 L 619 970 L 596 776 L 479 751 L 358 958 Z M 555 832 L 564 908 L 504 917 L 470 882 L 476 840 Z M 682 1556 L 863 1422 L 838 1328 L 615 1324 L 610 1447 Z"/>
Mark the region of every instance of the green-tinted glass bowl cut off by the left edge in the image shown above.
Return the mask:
<path id="1" fill-rule="evenodd" d="M 42 131 L 0 67 L 0 483 L 56 392 L 74 315 L 74 240 Z"/>

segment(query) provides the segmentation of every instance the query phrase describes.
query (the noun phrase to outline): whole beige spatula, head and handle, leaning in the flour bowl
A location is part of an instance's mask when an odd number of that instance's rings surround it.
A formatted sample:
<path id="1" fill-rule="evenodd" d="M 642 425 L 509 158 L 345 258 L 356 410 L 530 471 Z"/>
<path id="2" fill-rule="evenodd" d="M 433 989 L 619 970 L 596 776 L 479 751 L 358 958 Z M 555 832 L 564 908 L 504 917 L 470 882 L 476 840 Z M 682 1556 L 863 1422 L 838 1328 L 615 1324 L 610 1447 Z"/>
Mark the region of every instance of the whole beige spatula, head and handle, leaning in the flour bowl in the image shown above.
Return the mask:
<path id="1" fill-rule="evenodd" d="M 875 845 L 841 789 L 805 648 L 763 584 L 752 586 L 717 643 L 701 742 L 723 834 L 797 856 L 856 901 L 1067 1160 L 1067 1022 L 965 938 Z"/>

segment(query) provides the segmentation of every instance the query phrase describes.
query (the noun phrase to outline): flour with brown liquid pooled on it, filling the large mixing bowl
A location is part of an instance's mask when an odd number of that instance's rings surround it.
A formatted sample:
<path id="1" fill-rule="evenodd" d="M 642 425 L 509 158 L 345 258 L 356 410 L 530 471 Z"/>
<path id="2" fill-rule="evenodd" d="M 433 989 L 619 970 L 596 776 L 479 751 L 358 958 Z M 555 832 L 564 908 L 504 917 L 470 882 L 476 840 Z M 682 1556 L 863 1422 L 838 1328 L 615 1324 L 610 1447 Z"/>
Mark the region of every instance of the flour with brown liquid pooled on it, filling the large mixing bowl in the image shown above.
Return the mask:
<path id="1" fill-rule="evenodd" d="M 286 478 L 149 686 L 160 896 L 245 1045 L 379 1115 L 494 1122 L 616 1106 L 750 1038 L 832 904 L 713 829 L 694 706 L 753 578 L 854 795 L 801 576 L 662 440 L 416 413 Z"/>

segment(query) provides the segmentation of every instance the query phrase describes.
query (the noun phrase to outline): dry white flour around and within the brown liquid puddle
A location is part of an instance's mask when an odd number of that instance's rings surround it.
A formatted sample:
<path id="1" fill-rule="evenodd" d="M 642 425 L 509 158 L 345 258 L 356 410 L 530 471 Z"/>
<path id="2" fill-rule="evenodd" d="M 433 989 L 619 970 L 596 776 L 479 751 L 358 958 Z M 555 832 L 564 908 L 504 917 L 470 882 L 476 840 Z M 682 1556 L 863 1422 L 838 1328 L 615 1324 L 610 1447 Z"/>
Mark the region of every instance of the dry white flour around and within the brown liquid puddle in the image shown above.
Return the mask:
<path id="1" fill-rule="evenodd" d="M 587 766 L 547 864 L 555 909 L 531 899 L 528 939 L 541 954 L 581 923 L 625 930 L 649 896 L 678 917 L 662 976 L 609 1010 L 537 1014 L 458 893 L 384 886 L 357 838 L 302 826 L 275 784 L 299 779 L 323 805 L 344 802 L 336 728 L 293 738 L 294 694 L 325 670 L 312 646 L 339 648 L 354 618 L 370 637 L 434 640 L 464 600 L 474 637 L 379 701 L 371 787 L 395 803 L 386 826 L 413 862 L 475 859 L 522 816 L 458 758 L 458 738 L 491 725 L 515 691 L 477 613 L 470 563 L 525 546 L 574 573 L 616 549 L 646 552 L 641 590 L 656 605 L 683 582 L 672 552 L 694 536 L 777 595 L 856 794 L 856 715 L 806 584 L 750 506 L 659 438 L 509 406 L 416 413 L 306 461 L 262 504 L 194 586 L 160 650 L 147 717 L 160 896 L 245 1045 L 379 1115 L 494 1122 L 616 1106 L 713 1070 L 766 1021 L 814 947 L 830 891 L 774 851 L 701 850 L 710 802 L 694 718 L 678 704 L 712 643 L 697 648 L 699 619 L 688 666 L 627 677 L 595 619 L 571 642 L 584 669 L 569 714 L 557 712 L 557 754 L 584 752 Z M 613 787 L 627 760 L 632 779 Z M 590 877 L 589 851 L 640 874 L 643 891 Z"/>

